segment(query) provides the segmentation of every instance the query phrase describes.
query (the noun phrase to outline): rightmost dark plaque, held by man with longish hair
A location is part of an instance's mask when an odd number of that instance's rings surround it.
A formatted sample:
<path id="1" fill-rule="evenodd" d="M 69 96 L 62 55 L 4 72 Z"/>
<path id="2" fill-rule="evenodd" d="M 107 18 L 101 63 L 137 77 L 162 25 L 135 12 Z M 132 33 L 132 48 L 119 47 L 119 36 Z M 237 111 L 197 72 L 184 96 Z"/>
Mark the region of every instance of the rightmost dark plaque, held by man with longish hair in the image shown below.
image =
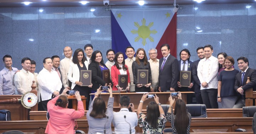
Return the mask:
<path id="1" fill-rule="evenodd" d="M 180 84 L 182 87 L 188 87 L 191 83 L 191 71 L 180 71 Z"/>

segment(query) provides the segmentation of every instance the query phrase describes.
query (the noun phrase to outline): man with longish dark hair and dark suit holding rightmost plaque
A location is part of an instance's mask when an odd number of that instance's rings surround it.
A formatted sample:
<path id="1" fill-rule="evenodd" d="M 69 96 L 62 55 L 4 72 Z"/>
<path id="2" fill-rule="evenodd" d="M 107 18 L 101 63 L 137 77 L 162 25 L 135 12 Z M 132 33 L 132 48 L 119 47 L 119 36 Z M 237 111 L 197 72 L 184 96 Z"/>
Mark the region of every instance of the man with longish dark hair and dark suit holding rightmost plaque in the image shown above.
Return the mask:
<path id="1" fill-rule="evenodd" d="M 180 52 L 180 59 L 178 61 L 179 64 L 179 70 L 180 71 L 192 71 L 192 66 L 193 66 L 193 62 L 190 61 L 190 52 L 188 49 L 183 49 Z M 193 79 L 191 77 L 191 83 L 190 86 L 188 87 L 181 87 L 180 81 L 178 81 L 178 91 L 180 92 L 187 92 L 187 91 L 194 91 L 193 89 Z M 187 104 L 192 104 L 192 98 L 193 98 L 193 94 L 192 93 L 188 93 L 187 94 Z"/>

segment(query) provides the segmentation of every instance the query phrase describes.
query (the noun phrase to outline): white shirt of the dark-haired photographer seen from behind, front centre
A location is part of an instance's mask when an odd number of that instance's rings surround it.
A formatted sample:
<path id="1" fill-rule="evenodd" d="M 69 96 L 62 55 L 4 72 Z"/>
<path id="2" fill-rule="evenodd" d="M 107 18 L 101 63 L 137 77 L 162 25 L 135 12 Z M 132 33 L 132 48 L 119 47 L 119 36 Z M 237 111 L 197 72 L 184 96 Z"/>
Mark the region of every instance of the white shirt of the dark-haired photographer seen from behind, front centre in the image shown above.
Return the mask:
<path id="1" fill-rule="evenodd" d="M 130 125 L 124 120 L 124 116 L 126 116 L 126 121 Z M 120 112 L 114 112 L 112 123 L 116 134 L 129 134 L 130 127 L 132 134 L 135 134 L 135 127 L 138 125 L 138 116 L 135 112 L 129 112 L 127 108 L 121 108 Z"/>

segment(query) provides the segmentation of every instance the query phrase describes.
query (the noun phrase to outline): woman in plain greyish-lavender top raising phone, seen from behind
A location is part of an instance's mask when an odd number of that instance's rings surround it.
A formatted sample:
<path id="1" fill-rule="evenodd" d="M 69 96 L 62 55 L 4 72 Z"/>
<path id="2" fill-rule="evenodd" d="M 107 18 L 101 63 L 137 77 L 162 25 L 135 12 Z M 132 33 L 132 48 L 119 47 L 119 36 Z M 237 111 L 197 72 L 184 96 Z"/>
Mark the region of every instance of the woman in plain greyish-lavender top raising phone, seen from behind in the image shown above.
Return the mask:
<path id="1" fill-rule="evenodd" d="M 106 109 L 105 101 L 98 97 L 101 90 L 101 86 L 97 89 L 95 93 L 95 97 L 91 102 L 88 112 L 86 113 L 86 118 L 89 124 L 89 131 L 88 134 L 96 134 L 104 133 L 111 134 L 111 122 L 113 119 L 113 104 L 114 104 L 114 97 L 112 95 L 112 88 L 108 86 L 108 92 L 110 93 L 110 97 L 108 98 L 108 104 Z"/>

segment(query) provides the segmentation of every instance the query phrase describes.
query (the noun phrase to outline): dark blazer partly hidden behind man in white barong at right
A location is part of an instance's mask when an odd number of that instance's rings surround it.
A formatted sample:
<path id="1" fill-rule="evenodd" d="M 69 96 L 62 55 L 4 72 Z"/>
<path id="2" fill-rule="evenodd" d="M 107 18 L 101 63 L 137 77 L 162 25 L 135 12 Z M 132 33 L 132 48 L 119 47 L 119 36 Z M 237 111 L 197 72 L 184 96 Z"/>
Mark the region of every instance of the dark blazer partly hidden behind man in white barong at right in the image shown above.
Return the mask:
<path id="1" fill-rule="evenodd" d="M 201 93 L 201 91 L 200 91 L 201 83 L 197 76 L 197 66 L 198 66 L 199 61 L 200 61 L 200 59 L 194 61 L 193 66 L 192 66 L 192 77 L 193 77 L 193 81 L 194 81 L 193 84 L 194 84 L 194 92 L 195 93 Z"/>

